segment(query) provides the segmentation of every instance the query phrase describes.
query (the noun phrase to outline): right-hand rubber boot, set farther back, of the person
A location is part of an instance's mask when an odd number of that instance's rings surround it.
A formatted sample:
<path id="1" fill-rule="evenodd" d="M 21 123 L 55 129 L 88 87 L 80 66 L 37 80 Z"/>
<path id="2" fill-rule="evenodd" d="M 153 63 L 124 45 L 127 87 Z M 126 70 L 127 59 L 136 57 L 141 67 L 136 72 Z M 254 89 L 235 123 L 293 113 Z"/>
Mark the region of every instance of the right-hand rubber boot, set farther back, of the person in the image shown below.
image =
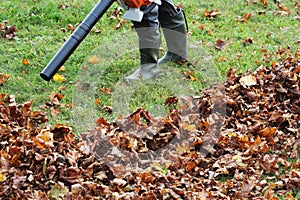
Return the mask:
<path id="1" fill-rule="evenodd" d="M 183 64 L 187 62 L 187 38 L 183 11 L 178 8 L 174 16 L 161 15 L 159 22 L 166 40 L 167 52 L 158 60 L 158 63 Z"/>

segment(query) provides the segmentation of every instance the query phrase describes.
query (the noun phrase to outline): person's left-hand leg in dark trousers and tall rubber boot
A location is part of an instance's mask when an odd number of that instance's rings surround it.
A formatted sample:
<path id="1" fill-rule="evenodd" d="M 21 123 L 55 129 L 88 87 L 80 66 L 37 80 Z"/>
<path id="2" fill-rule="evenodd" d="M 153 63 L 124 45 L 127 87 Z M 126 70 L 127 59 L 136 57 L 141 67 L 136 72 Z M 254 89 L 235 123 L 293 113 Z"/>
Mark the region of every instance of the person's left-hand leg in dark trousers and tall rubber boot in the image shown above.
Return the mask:
<path id="1" fill-rule="evenodd" d="M 142 7 L 141 10 L 145 9 Z M 160 32 L 158 22 L 158 6 L 145 14 L 141 22 L 134 22 L 138 35 L 140 51 L 140 68 L 126 77 L 126 80 L 149 79 L 159 74 L 158 54 Z"/>

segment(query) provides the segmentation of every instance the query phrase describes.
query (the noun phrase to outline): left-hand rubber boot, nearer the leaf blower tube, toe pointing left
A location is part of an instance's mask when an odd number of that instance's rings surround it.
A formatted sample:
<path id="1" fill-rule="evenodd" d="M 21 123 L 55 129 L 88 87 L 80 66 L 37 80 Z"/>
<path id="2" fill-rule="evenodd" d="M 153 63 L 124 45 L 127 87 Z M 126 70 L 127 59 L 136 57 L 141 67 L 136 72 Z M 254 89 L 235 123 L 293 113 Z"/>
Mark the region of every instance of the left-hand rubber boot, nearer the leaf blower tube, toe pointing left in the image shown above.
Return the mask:
<path id="1" fill-rule="evenodd" d="M 158 55 L 160 46 L 159 28 L 136 29 L 139 38 L 140 67 L 125 80 L 146 80 L 159 74 Z"/>

